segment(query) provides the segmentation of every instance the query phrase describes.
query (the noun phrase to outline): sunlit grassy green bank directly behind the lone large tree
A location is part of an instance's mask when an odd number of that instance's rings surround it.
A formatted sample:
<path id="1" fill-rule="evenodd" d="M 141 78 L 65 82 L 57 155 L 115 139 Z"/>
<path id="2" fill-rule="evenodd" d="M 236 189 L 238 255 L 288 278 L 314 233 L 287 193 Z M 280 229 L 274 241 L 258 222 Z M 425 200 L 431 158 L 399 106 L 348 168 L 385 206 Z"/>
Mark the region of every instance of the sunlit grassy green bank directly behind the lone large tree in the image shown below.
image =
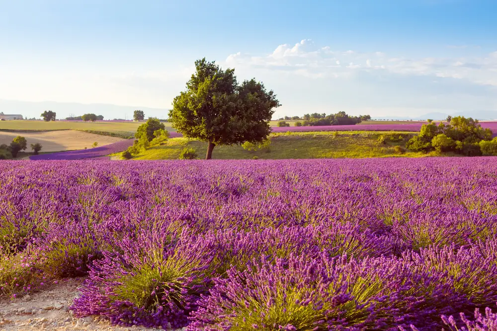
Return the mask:
<path id="1" fill-rule="evenodd" d="M 414 132 L 292 132 L 273 133 L 269 137 L 271 145 L 268 150 L 247 151 L 242 146 L 216 146 L 213 159 L 303 159 L 303 158 L 363 158 L 408 156 L 420 157 L 432 154 L 421 152 L 399 153 L 396 145 L 404 146 L 414 136 Z M 378 137 L 383 135 L 387 143 L 382 144 Z M 403 136 L 403 141 L 392 142 L 390 137 Z M 181 149 L 193 147 L 198 157 L 203 158 L 207 151 L 207 143 L 185 138 L 171 138 L 163 145 L 151 147 L 133 159 L 163 160 L 177 159 Z M 433 154 L 434 155 L 434 154 Z"/>

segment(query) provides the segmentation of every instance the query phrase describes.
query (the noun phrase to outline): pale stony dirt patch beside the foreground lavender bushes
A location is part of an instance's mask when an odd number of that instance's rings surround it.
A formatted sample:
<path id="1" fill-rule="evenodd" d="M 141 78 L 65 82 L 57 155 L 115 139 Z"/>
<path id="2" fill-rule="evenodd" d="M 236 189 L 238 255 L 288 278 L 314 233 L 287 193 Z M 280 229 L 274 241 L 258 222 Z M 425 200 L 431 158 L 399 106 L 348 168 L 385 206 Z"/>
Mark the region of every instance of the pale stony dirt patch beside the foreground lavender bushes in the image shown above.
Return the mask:
<path id="1" fill-rule="evenodd" d="M 76 318 L 69 310 L 80 295 L 83 279 L 62 280 L 44 291 L 14 300 L 0 301 L 0 331 L 13 330 L 159 330 L 143 327 L 113 327 L 98 316 Z M 181 331 L 177 329 L 176 331 Z"/>

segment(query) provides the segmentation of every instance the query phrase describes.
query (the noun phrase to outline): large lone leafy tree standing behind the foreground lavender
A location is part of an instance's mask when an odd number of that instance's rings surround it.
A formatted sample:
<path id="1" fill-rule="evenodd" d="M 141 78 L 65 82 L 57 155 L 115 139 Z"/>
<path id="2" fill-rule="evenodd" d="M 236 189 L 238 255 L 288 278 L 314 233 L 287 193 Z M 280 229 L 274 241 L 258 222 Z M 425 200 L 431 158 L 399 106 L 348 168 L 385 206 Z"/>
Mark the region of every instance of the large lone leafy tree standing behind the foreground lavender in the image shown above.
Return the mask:
<path id="1" fill-rule="evenodd" d="M 253 78 L 238 84 L 235 69 L 223 70 L 205 58 L 195 67 L 186 91 L 172 103 L 172 127 L 186 138 L 207 141 L 206 159 L 216 145 L 262 142 L 271 130 L 273 108 L 280 106 L 274 92 Z"/>

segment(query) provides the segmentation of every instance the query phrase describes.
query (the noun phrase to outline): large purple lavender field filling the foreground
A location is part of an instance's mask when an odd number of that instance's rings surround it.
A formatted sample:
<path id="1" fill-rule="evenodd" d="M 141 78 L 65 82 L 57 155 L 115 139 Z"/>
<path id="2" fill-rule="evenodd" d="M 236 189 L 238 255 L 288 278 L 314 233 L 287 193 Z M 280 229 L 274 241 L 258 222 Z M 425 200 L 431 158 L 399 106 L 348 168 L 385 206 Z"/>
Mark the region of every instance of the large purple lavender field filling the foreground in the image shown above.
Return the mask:
<path id="1" fill-rule="evenodd" d="M 496 330 L 493 157 L 0 171 L 3 298 L 83 276 L 76 315 L 119 325 Z"/>

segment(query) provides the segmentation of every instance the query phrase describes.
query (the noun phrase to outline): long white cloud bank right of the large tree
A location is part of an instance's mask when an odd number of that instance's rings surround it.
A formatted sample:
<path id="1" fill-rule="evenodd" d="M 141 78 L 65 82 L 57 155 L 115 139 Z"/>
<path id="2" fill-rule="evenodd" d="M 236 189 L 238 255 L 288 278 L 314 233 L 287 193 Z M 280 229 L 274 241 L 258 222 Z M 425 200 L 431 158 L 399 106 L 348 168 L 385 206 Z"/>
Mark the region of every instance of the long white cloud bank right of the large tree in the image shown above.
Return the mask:
<path id="1" fill-rule="evenodd" d="M 352 70 L 377 70 L 401 75 L 451 77 L 475 84 L 497 86 L 497 52 L 460 58 L 397 57 L 384 52 L 361 53 L 354 50 L 332 50 L 317 47 L 311 39 L 295 45 L 282 44 L 265 56 L 228 56 L 230 66 L 257 66 L 269 70 L 284 70 L 307 77 L 343 77 Z M 341 64 L 347 64 L 342 66 Z"/>

